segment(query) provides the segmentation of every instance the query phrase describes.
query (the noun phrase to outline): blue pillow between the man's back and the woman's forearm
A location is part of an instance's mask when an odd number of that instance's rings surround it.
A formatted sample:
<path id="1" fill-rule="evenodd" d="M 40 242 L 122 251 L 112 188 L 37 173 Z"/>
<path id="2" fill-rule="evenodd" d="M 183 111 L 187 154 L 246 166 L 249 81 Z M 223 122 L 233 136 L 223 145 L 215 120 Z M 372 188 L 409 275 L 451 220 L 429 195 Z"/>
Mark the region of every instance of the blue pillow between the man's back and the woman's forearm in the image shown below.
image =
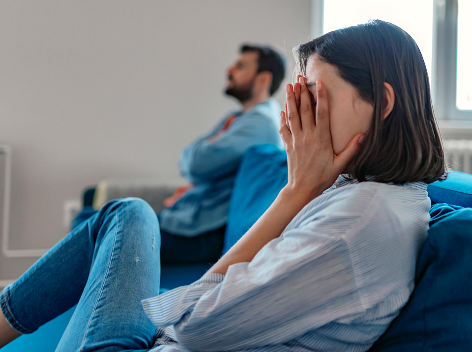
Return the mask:
<path id="1" fill-rule="evenodd" d="M 287 181 L 285 151 L 265 144 L 244 153 L 231 194 L 223 253 L 264 214 Z"/>

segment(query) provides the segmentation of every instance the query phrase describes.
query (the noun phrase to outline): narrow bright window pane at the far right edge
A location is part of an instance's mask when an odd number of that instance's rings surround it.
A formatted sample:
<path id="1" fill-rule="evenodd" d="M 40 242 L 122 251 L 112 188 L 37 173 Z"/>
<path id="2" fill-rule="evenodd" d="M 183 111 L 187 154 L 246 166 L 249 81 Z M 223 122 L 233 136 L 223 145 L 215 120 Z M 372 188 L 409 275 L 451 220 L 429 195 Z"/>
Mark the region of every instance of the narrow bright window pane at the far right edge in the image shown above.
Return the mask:
<path id="1" fill-rule="evenodd" d="M 457 10 L 456 106 L 472 110 L 472 1 L 459 0 Z"/>

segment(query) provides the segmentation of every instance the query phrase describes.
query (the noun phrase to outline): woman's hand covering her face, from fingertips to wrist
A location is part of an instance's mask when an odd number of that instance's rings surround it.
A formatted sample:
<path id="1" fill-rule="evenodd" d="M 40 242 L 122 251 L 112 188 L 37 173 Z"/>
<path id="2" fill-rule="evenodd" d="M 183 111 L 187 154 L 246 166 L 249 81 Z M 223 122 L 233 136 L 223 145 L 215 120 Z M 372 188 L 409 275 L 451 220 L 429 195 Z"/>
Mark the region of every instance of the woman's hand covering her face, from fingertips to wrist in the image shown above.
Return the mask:
<path id="1" fill-rule="evenodd" d="M 306 205 L 334 183 L 354 158 L 364 135 L 354 136 L 336 155 L 331 143 L 327 93 L 323 82 L 316 82 L 315 110 L 306 79 L 299 76 L 298 82 L 295 89 L 290 84 L 286 86 L 286 111 L 280 113 L 280 135 L 287 151 L 289 168 L 289 181 L 282 191 Z"/>

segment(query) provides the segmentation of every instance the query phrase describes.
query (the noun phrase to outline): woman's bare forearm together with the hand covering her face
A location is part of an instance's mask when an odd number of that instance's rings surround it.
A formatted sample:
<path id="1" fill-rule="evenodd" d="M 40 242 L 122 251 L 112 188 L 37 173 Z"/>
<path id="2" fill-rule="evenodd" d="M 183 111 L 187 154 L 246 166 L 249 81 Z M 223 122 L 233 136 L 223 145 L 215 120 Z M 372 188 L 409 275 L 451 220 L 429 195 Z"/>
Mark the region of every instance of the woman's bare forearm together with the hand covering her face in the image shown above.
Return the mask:
<path id="1" fill-rule="evenodd" d="M 335 155 L 329 132 L 326 89 L 317 82 L 316 118 L 305 78 L 287 85 L 287 113 L 280 113 L 280 134 L 287 150 L 289 182 L 256 223 L 214 264 L 209 273 L 226 274 L 232 264 L 250 262 L 269 241 L 280 236 L 295 215 L 331 186 L 359 148 L 358 134 Z M 287 120 L 286 120 L 287 118 Z"/>

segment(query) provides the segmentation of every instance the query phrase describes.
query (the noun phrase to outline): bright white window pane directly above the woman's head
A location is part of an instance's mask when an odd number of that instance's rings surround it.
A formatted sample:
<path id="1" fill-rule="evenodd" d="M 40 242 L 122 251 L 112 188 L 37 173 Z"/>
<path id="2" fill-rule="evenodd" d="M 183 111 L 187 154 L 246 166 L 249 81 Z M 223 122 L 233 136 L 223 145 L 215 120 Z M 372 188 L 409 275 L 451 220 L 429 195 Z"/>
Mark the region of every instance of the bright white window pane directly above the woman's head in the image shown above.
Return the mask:
<path id="1" fill-rule="evenodd" d="M 433 0 L 324 0 L 323 33 L 371 19 L 393 23 L 413 37 L 423 55 L 431 82 Z"/>

